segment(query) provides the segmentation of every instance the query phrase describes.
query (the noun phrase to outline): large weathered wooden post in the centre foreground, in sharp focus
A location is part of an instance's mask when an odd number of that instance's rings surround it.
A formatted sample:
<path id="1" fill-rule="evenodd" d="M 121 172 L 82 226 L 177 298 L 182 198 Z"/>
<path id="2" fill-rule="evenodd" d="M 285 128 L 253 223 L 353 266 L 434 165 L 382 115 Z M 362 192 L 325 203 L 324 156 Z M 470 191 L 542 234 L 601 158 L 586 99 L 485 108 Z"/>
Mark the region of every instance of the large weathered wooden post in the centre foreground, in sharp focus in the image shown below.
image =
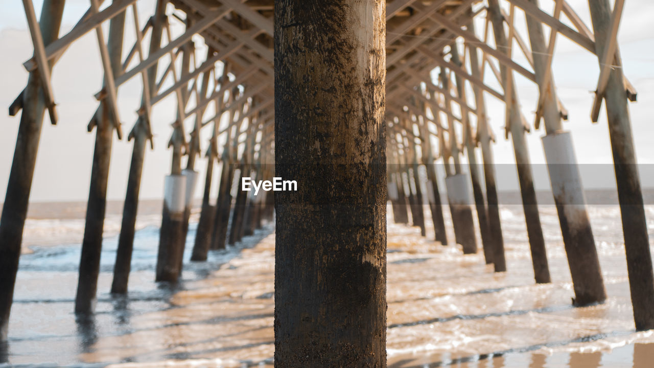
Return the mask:
<path id="1" fill-rule="evenodd" d="M 275 366 L 386 367 L 385 1 L 275 2 Z"/>

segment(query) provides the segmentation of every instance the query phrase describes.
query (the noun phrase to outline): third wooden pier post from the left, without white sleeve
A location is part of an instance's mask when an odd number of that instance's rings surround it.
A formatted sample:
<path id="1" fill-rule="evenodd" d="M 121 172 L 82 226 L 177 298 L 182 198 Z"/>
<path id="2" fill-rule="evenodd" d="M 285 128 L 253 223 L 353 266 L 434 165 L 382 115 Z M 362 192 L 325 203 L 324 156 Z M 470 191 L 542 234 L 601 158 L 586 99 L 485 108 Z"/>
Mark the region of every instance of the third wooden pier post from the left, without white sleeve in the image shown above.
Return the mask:
<path id="1" fill-rule="evenodd" d="M 149 54 L 154 54 L 161 48 L 163 22 L 165 19 L 165 2 L 158 0 L 154 10 L 154 21 L 150 33 Z M 148 88 L 144 89 L 141 107 L 146 109 L 145 93 L 150 97 L 156 94 L 156 75 L 159 63 L 152 64 L 147 70 Z M 133 149 L 127 181 L 125 201 L 123 203 L 122 223 L 118 235 L 118 249 L 116 250 L 116 263 L 114 263 L 114 279 L 111 284 L 111 293 L 125 294 L 128 291 L 129 272 L 131 270 L 131 255 L 134 248 L 134 234 L 136 232 L 136 216 L 139 209 L 139 191 L 141 190 L 141 176 L 143 175 L 143 160 L 145 159 L 145 145 L 150 136 L 150 122 L 146 121 L 147 114 L 141 115 L 134 124 L 128 140 L 133 138 Z M 150 141 L 152 142 L 152 141 Z"/>

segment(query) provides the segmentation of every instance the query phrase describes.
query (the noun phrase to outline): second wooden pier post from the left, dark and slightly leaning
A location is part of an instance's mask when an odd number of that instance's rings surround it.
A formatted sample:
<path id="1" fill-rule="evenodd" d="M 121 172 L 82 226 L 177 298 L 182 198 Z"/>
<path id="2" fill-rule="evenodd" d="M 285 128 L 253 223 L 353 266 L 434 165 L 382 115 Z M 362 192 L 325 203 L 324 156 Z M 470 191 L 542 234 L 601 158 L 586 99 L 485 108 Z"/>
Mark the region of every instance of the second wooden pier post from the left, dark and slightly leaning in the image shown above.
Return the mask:
<path id="1" fill-rule="evenodd" d="M 122 46 L 125 29 L 125 13 L 122 12 L 109 22 L 109 61 L 114 75 L 122 72 Z M 102 40 L 104 42 L 104 40 Z M 100 254 L 102 252 L 102 234 L 105 224 L 107 206 L 107 183 L 109 181 L 109 162 L 111 160 L 111 143 L 116 125 L 116 116 L 112 116 L 110 104 L 105 98 L 95 116 L 95 151 L 91 168 L 91 185 L 86 205 L 86 225 L 82 240 L 79 280 L 75 297 L 75 312 L 88 314 L 94 312 L 97 277 L 100 272 Z M 120 123 L 120 122 L 118 122 Z"/>

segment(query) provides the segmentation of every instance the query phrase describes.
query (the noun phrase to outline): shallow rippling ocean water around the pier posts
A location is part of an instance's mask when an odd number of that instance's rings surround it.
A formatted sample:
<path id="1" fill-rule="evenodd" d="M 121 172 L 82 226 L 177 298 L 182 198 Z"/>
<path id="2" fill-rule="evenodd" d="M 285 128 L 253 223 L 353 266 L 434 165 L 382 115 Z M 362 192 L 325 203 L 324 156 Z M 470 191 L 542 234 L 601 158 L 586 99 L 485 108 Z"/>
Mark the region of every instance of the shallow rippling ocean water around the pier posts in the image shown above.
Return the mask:
<path id="1" fill-rule="evenodd" d="M 77 207 L 76 207 L 77 206 Z M 111 207 L 111 206 L 110 206 Z M 267 367 L 272 364 L 274 224 L 156 284 L 160 202 L 139 213 L 127 297 L 112 297 L 120 206 L 107 215 L 97 312 L 73 313 L 84 206 L 33 206 L 0 367 Z M 635 332 L 619 207 L 590 205 L 608 301 L 574 308 L 554 206 L 540 207 L 551 284 L 533 281 L 521 206 L 501 206 L 508 272 L 388 214 L 389 367 L 653 367 L 654 331 Z M 430 224 L 425 208 L 426 223 Z M 454 234 L 443 208 L 449 240 Z M 654 206 L 647 205 L 654 236 Z M 65 214 L 62 214 L 65 213 Z"/>

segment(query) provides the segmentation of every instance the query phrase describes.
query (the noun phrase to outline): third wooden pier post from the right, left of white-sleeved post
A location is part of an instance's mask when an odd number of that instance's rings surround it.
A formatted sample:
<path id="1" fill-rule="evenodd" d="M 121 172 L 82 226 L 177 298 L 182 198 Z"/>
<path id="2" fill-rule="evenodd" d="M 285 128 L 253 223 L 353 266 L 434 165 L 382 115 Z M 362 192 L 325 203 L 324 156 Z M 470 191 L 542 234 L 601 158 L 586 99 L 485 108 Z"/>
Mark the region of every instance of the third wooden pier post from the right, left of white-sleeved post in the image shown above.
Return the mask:
<path id="1" fill-rule="evenodd" d="M 489 0 L 489 18 L 492 22 L 493 33 L 495 36 L 495 43 L 502 52 L 507 52 L 508 41 L 504 33 L 504 16 L 500 10 L 500 5 L 497 0 Z M 511 132 L 511 139 L 513 141 L 513 153 L 515 155 L 515 162 L 518 172 L 518 181 L 520 183 L 520 194 L 523 200 L 523 210 L 525 212 L 525 222 L 527 228 L 527 237 L 529 238 L 529 246 L 533 254 L 545 255 L 545 238 L 543 238 L 543 229 L 540 224 L 540 214 L 538 213 L 538 204 L 536 202 L 536 190 L 534 189 L 534 178 L 532 176 L 531 164 L 529 160 L 529 152 L 525 140 L 526 126 L 523 122 L 523 117 L 520 112 L 520 104 L 515 93 L 515 84 L 513 77 L 504 64 L 500 65 L 500 72 L 502 73 L 502 82 L 504 91 L 511 91 L 508 96 L 504 96 L 507 104 L 508 114 L 508 129 Z M 496 249 L 499 251 L 499 249 Z M 495 254 L 493 261 L 495 264 L 495 271 L 506 271 L 506 262 L 504 255 Z M 541 265 L 540 258 L 536 258 L 534 265 Z M 540 270 L 534 270 L 534 274 L 538 274 Z"/>

